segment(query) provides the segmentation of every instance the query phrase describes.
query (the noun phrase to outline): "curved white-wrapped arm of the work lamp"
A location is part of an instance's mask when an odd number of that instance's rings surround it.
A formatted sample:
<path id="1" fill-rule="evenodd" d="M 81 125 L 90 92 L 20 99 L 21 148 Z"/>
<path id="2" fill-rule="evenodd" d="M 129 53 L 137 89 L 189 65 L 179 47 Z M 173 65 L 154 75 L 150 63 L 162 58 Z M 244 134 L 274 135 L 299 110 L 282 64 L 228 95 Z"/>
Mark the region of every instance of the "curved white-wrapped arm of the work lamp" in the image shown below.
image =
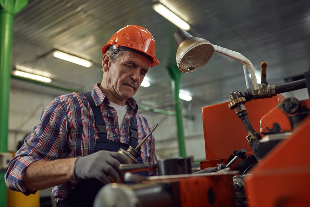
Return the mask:
<path id="1" fill-rule="evenodd" d="M 252 83 L 253 83 L 254 89 L 256 90 L 256 89 L 259 88 L 258 87 L 258 83 L 257 83 L 257 79 L 256 79 L 256 75 L 255 75 L 255 71 L 254 71 L 254 67 L 253 67 L 253 65 L 252 65 L 252 63 L 251 63 L 251 61 L 249 59 L 247 59 L 245 56 L 243 56 L 239 52 L 228 50 L 227 48 L 220 47 L 220 46 L 217 46 L 217 45 L 213 45 L 213 47 L 214 47 L 214 51 L 215 52 L 221 53 L 223 55 L 226 55 L 228 57 L 231 57 L 233 59 L 236 59 L 236 60 L 242 62 L 248 68 L 248 70 L 250 71 L 251 79 L 252 79 Z"/>

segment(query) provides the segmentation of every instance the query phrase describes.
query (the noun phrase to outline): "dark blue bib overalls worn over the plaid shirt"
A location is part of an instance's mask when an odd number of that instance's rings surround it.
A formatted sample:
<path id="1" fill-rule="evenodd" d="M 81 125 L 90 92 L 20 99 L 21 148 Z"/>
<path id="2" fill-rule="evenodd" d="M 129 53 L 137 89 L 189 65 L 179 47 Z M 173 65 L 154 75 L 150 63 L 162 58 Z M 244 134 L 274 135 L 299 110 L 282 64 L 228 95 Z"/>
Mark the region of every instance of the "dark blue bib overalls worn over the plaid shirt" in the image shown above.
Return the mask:
<path id="1" fill-rule="evenodd" d="M 121 142 L 114 142 L 108 139 L 108 134 L 106 130 L 106 125 L 103 119 L 103 115 L 100 110 L 100 106 L 96 106 L 93 98 L 91 97 L 91 92 L 84 93 L 86 96 L 91 110 L 93 111 L 96 127 L 99 133 L 99 139 L 96 140 L 96 145 L 93 153 L 98 152 L 100 150 L 107 150 L 107 151 L 115 151 L 117 152 L 120 148 L 127 150 L 128 146 L 132 146 L 135 148 L 138 145 L 138 127 L 137 127 L 137 119 L 135 116 L 131 117 L 131 140 L 130 144 L 125 144 Z M 141 155 L 140 149 L 138 150 L 139 154 Z M 143 163 L 142 157 L 139 156 L 137 158 L 138 163 Z M 149 176 L 148 172 L 143 171 L 139 172 L 139 174 L 143 176 Z M 67 198 L 64 200 L 57 202 L 57 207 L 76 207 L 76 206 L 83 206 L 83 207 L 92 207 L 95 196 L 97 192 L 100 190 L 101 187 L 104 186 L 104 183 L 92 178 L 86 180 L 79 180 L 76 187 L 73 191 L 68 194 Z"/>

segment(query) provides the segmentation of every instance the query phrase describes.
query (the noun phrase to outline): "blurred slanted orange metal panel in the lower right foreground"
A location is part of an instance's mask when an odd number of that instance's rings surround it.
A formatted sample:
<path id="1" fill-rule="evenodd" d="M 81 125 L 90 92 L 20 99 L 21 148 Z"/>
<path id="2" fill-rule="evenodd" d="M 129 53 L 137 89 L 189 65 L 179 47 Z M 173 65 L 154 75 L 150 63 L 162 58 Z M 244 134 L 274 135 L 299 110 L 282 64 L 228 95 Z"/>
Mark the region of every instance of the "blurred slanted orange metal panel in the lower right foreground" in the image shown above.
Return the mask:
<path id="1" fill-rule="evenodd" d="M 245 179 L 250 207 L 309 206 L 309 138 L 310 116 L 251 171 Z"/>

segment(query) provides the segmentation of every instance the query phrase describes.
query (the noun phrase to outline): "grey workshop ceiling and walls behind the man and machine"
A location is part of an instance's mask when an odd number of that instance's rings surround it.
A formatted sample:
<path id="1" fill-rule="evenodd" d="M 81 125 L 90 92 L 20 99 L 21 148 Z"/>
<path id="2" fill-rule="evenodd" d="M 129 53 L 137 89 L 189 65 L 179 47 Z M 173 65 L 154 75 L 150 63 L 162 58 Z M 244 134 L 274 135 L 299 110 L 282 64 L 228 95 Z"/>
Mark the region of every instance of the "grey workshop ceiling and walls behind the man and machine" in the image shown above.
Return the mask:
<path id="1" fill-rule="evenodd" d="M 229 101 L 231 91 L 246 88 L 243 65 L 215 53 L 202 69 L 182 74 L 180 89 L 191 101 L 174 98 L 168 69 L 175 67 L 173 34 L 179 30 L 154 11 L 152 0 L 29 0 L 13 22 L 8 151 L 16 151 L 38 123 L 42 110 L 55 97 L 92 90 L 102 79 L 101 47 L 126 25 L 140 25 L 153 35 L 160 64 L 146 75 L 150 85 L 134 98 L 155 135 L 158 158 L 178 157 L 175 103 L 181 101 L 185 152 L 193 161 L 205 160 L 201 108 Z M 185 20 L 193 36 L 240 52 L 254 65 L 268 63 L 269 84 L 301 79 L 310 65 L 310 1 L 308 0 L 161 0 Z M 59 50 L 92 62 L 77 65 L 53 56 Z M 30 69 L 30 70 L 29 70 Z M 51 78 L 40 83 L 15 71 Z M 253 88 L 250 77 L 246 77 Z M 307 89 L 284 94 L 307 99 Z M 228 113 L 234 113 L 229 111 Z M 213 119 L 213 117 L 210 117 Z M 225 129 L 223 129 L 225 130 Z M 223 143 L 226 145 L 228 143 Z"/>

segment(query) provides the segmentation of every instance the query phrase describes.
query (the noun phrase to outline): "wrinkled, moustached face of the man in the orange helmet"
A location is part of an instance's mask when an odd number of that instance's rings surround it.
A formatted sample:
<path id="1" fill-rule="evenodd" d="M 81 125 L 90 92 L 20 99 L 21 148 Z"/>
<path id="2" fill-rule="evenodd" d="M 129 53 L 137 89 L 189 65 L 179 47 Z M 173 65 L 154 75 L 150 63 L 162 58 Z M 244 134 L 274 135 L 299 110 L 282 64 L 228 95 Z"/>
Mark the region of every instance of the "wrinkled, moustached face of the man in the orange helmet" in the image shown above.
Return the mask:
<path id="1" fill-rule="evenodd" d="M 146 57 L 135 52 L 122 51 L 108 69 L 110 89 L 115 98 L 126 100 L 133 97 L 150 65 Z"/>

